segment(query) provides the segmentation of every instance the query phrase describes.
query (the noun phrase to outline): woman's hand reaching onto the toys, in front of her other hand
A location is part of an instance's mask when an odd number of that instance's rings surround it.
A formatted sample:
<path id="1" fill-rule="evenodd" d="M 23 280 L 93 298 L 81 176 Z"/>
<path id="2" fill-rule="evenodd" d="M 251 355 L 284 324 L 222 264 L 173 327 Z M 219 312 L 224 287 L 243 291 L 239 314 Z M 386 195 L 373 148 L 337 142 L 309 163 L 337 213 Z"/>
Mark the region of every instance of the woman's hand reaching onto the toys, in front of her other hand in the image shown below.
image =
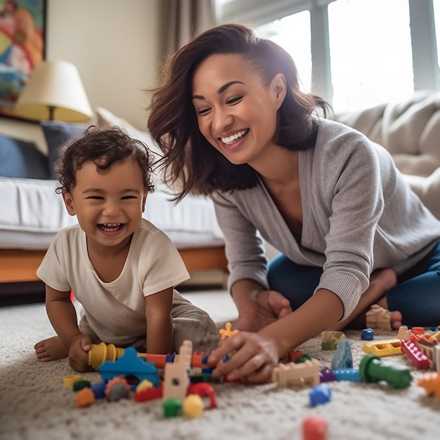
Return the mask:
<path id="1" fill-rule="evenodd" d="M 226 362 L 225 356 L 229 356 Z M 240 332 L 223 339 L 218 349 L 208 356 L 215 365 L 212 377 L 226 376 L 228 380 L 268 382 L 273 367 L 278 364 L 276 341 L 259 333 Z"/>

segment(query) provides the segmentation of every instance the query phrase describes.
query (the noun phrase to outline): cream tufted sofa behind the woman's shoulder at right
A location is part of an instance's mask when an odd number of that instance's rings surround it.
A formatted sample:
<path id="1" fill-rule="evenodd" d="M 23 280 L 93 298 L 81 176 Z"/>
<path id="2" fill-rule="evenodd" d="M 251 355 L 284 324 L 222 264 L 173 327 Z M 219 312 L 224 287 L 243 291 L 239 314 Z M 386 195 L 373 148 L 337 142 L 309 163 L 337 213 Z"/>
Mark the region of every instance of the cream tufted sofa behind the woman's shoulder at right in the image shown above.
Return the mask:
<path id="1" fill-rule="evenodd" d="M 440 219 L 440 92 L 420 91 L 333 117 L 383 145 L 431 212 Z"/>

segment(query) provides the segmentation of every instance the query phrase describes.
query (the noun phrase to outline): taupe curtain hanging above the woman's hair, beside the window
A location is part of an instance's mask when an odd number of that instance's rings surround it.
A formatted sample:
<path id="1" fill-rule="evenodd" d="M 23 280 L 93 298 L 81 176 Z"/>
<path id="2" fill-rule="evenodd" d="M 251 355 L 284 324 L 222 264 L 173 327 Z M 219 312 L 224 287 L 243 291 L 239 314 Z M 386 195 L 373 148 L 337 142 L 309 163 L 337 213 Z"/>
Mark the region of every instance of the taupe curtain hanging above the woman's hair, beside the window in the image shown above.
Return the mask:
<path id="1" fill-rule="evenodd" d="M 216 24 L 215 0 L 167 0 L 164 6 L 167 15 L 167 55 Z"/>

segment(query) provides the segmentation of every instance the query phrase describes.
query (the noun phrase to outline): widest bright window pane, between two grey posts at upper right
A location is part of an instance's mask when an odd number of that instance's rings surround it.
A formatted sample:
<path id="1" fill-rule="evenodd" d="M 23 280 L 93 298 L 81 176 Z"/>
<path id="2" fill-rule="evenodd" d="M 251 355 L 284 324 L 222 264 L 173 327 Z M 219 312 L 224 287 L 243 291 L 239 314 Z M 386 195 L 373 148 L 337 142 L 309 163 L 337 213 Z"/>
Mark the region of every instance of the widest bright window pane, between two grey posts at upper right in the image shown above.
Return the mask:
<path id="1" fill-rule="evenodd" d="M 328 6 L 328 25 L 336 111 L 413 95 L 406 1 L 338 0 Z"/>

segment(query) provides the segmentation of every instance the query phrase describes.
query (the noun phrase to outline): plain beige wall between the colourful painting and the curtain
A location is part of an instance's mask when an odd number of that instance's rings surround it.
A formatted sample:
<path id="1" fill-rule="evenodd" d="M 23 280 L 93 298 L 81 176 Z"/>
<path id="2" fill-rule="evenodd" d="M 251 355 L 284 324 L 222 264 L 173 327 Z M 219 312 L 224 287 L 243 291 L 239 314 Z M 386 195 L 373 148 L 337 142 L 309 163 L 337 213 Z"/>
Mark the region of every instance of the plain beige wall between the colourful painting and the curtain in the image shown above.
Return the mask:
<path id="1" fill-rule="evenodd" d="M 161 0 L 47 0 L 46 59 L 77 66 L 91 107 L 145 128 L 160 62 Z"/>

